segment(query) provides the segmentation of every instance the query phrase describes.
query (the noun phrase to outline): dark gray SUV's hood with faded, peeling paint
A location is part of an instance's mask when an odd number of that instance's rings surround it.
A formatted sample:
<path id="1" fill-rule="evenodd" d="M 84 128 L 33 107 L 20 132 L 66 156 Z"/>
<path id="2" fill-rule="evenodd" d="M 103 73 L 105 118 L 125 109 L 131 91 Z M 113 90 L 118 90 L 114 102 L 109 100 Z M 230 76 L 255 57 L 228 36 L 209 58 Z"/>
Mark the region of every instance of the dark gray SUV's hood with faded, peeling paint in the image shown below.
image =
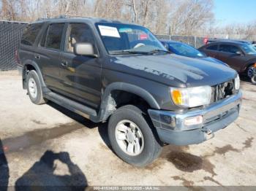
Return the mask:
<path id="1" fill-rule="evenodd" d="M 174 54 L 115 55 L 107 67 L 172 87 L 217 85 L 236 77 L 236 71 L 225 65 Z"/>

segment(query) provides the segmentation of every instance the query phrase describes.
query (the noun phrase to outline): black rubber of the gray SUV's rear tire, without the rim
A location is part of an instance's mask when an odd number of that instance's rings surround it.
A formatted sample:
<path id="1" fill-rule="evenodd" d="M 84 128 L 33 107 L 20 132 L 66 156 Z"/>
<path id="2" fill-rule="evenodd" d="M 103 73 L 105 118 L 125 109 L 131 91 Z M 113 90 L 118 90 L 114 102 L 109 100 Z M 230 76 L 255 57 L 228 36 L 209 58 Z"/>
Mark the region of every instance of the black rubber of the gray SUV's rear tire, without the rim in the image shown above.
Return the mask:
<path id="1" fill-rule="evenodd" d="M 37 95 L 34 97 L 31 95 L 31 92 L 29 91 L 29 80 L 33 79 L 36 84 L 37 89 Z M 31 70 L 29 71 L 29 74 L 26 76 L 26 90 L 28 91 L 30 100 L 37 105 L 45 104 L 47 100 L 43 98 L 42 95 L 42 87 L 39 82 L 39 77 L 37 75 L 37 71 Z"/>

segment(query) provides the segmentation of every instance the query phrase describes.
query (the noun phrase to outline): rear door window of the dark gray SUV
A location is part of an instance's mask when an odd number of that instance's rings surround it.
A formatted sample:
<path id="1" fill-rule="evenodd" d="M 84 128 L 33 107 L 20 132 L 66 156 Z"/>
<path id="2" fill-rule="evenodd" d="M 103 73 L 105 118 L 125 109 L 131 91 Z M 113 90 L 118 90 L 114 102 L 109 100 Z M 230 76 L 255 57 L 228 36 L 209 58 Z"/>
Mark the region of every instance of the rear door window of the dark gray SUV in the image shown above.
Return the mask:
<path id="1" fill-rule="evenodd" d="M 51 24 L 48 27 L 45 47 L 61 49 L 61 37 L 65 24 Z"/>

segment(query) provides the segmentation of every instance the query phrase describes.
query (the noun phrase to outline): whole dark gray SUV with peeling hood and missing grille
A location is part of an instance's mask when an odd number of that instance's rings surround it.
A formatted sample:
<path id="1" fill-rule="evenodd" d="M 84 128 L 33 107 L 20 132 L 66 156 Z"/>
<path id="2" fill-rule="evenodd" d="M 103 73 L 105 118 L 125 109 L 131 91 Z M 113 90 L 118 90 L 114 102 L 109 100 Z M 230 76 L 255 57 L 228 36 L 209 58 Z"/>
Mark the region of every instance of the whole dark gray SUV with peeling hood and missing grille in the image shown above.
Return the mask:
<path id="1" fill-rule="evenodd" d="M 168 52 L 143 26 L 97 18 L 31 23 L 18 50 L 23 88 L 108 122 L 118 157 L 144 166 L 164 144 L 199 144 L 238 117 L 233 69 Z"/>

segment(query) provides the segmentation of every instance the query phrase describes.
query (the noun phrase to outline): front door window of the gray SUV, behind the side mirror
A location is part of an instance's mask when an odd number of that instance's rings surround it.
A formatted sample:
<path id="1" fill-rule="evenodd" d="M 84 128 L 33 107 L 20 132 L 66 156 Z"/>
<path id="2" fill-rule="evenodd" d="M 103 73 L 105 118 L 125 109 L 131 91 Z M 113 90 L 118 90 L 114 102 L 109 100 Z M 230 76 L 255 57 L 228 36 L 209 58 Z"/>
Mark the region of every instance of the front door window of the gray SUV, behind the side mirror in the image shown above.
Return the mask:
<path id="1" fill-rule="evenodd" d="M 67 52 L 74 52 L 75 44 L 81 42 L 89 42 L 93 45 L 95 44 L 91 28 L 89 28 L 89 26 L 87 26 L 86 24 L 70 24 L 66 44 Z"/>

